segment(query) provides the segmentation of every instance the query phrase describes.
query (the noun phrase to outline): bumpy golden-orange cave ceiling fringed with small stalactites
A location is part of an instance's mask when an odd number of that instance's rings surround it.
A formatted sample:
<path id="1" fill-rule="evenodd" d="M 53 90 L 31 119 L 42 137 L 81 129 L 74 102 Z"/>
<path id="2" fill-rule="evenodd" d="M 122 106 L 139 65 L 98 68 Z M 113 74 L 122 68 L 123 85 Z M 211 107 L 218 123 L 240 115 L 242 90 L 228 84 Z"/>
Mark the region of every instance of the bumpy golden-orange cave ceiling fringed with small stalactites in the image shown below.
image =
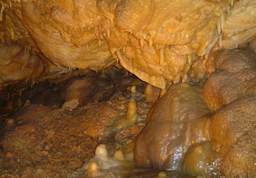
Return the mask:
<path id="1" fill-rule="evenodd" d="M 192 68 L 203 60 L 196 56 L 256 35 L 254 0 L 1 0 L 1 7 L 2 40 L 32 46 L 57 66 L 100 70 L 117 61 L 160 88 L 204 70 Z"/>

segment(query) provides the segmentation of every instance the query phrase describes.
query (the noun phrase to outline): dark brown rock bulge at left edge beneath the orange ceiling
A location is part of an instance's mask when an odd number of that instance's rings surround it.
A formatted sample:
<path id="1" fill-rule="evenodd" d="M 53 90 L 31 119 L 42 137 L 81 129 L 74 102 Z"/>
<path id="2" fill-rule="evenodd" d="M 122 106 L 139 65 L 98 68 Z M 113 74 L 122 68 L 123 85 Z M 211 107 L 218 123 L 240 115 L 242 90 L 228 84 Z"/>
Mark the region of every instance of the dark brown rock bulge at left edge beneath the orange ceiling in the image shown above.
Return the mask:
<path id="1" fill-rule="evenodd" d="M 0 84 L 36 80 L 48 72 L 48 62 L 18 43 L 0 43 Z"/>

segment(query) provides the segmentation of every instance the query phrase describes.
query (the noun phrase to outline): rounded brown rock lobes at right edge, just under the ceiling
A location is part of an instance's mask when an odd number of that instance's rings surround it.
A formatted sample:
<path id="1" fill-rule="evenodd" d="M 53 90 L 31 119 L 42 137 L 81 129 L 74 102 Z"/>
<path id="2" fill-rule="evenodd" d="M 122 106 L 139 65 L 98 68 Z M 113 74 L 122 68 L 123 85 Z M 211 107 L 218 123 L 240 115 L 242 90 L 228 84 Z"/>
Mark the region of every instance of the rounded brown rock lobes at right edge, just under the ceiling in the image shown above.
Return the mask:
<path id="1" fill-rule="evenodd" d="M 217 70 L 203 87 L 203 98 L 212 110 L 256 93 L 256 53 L 251 49 L 219 50 L 206 67 Z"/>

